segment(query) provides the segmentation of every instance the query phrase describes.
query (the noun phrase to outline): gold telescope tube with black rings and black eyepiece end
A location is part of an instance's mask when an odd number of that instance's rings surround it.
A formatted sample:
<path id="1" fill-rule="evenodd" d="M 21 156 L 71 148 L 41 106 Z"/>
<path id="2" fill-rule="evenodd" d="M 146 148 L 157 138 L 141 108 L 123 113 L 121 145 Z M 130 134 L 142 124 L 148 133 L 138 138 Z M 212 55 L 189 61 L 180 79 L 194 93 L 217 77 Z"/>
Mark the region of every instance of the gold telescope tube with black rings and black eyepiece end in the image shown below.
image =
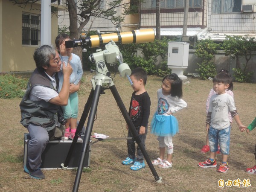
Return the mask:
<path id="1" fill-rule="evenodd" d="M 73 41 L 65 41 L 66 48 L 70 47 L 101 47 L 108 44 L 111 40 L 119 44 L 139 44 L 154 41 L 155 33 L 154 29 L 138 29 L 130 32 L 116 32 L 102 35 L 91 35 L 85 37 L 82 35 L 80 39 L 74 39 Z"/>

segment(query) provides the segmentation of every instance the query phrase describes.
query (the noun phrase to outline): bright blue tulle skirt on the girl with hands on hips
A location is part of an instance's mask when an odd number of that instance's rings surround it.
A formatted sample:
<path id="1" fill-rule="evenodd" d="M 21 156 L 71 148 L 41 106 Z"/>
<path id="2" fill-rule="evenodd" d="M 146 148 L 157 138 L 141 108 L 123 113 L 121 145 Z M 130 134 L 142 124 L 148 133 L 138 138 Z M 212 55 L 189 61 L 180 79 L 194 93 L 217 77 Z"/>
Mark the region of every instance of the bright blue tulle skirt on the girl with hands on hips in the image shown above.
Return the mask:
<path id="1" fill-rule="evenodd" d="M 151 121 L 150 132 L 161 137 L 175 136 L 179 132 L 178 121 L 175 116 L 158 115 L 156 112 Z"/>

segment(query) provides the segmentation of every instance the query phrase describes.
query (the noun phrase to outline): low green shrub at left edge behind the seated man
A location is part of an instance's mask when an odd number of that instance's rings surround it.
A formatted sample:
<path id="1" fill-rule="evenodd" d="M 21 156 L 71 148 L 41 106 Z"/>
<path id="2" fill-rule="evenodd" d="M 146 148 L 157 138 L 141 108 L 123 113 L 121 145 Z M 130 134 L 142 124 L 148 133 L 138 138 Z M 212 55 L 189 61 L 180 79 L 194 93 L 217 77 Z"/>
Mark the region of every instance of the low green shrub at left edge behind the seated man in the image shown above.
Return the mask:
<path id="1" fill-rule="evenodd" d="M 16 78 L 10 74 L 0 75 L 0 98 L 22 98 L 27 81 L 27 79 Z"/>

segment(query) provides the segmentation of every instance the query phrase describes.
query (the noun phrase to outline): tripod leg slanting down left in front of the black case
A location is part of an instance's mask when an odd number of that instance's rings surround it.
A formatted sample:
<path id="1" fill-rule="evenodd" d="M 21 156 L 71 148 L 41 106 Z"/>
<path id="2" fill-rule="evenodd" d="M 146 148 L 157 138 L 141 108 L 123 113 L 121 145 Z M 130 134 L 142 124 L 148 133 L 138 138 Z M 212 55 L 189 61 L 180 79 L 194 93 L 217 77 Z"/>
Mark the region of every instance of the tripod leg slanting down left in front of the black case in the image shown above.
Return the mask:
<path id="1" fill-rule="evenodd" d="M 78 124 L 78 126 L 77 126 L 76 133 L 75 133 L 75 137 L 74 137 L 73 142 L 72 142 L 72 144 L 71 144 L 71 146 L 70 146 L 70 149 L 69 149 L 69 151 L 68 151 L 66 160 L 65 160 L 64 163 L 61 163 L 61 167 L 62 167 L 62 169 L 64 169 L 64 170 L 67 169 L 67 166 L 68 166 L 68 163 L 70 162 L 70 158 L 71 158 L 72 152 L 73 152 L 73 150 L 74 150 L 74 148 L 75 148 L 77 139 L 78 139 L 78 137 L 79 137 L 79 135 L 80 135 L 80 133 L 81 133 L 81 131 L 82 131 L 82 128 L 83 128 L 84 123 L 85 123 L 85 121 L 86 121 L 87 115 L 88 115 L 88 113 L 89 113 L 89 111 L 90 111 L 90 108 L 91 108 L 91 105 L 92 105 L 92 101 L 93 101 L 93 93 L 94 93 L 94 90 L 92 89 L 92 90 L 90 91 L 90 95 L 89 95 L 89 97 L 88 97 L 88 99 L 87 99 L 87 102 L 86 102 L 86 104 L 84 105 L 84 111 L 83 111 L 83 113 L 82 113 L 81 119 L 80 119 L 79 124 Z"/>

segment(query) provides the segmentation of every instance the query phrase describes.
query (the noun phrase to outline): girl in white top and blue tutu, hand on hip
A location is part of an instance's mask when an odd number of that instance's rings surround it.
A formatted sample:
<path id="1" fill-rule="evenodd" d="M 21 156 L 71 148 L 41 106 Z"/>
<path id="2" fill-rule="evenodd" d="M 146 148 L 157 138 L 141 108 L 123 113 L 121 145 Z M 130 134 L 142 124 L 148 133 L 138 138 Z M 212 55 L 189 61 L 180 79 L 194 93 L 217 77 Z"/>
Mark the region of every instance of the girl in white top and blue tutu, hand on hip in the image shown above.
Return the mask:
<path id="1" fill-rule="evenodd" d="M 152 161 L 160 168 L 172 167 L 172 137 L 179 132 L 178 122 L 173 113 L 187 106 L 182 97 L 182 80 L 172 73 L 163 78 L 161 89 L 157 90 L 157 111 L 151 121 L 151 134 L 158 136 L 160 157 Z M 164 159 L 167 148 L 167 159 Z"/>

